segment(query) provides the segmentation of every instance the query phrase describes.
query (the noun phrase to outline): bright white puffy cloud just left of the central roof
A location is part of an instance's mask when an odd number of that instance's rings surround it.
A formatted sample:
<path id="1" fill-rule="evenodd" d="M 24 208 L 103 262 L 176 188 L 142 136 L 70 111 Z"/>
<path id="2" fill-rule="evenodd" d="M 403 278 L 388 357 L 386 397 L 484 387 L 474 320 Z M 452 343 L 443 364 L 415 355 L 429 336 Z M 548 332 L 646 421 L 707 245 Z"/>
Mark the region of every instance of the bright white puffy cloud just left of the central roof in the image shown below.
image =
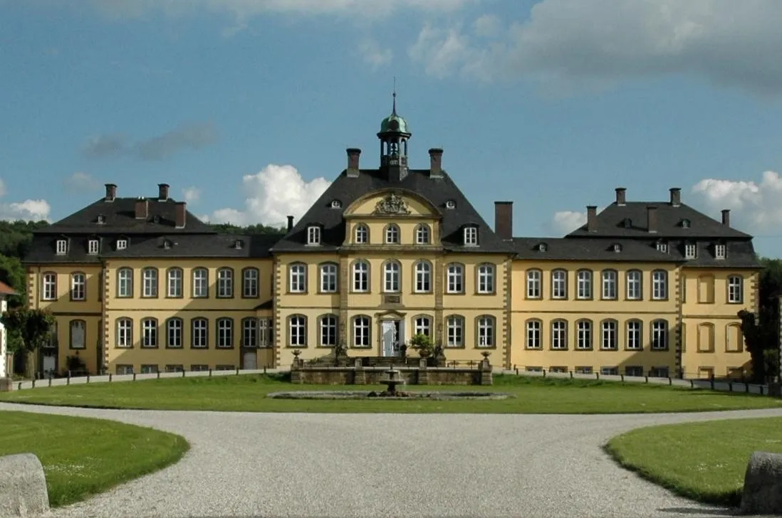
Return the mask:
<path id="1" fill-rule="evenodd" d="M 286 216 L 303 216 L 330 182 L 319 177 L 306 181 L 294 166 L 269 164 L 242 178 L 244 209 L 217 209 L 206 220 L 213 223 L 285 226 Z"/>

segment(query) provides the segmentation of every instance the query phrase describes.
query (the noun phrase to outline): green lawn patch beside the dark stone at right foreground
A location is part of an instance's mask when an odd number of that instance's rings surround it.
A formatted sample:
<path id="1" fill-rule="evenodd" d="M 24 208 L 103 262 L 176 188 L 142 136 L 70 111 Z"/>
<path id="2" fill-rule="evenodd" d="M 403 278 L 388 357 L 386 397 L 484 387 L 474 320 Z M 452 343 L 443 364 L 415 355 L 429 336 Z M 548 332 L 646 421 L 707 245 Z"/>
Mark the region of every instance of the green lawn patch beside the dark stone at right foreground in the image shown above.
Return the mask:
<path id="1" fill-rule="evenodd" d="M 639 428 L 606 446 L 619 464 L 679 495 L 734 506 L 756 450 L 782 453 L 782 417 Z"/>

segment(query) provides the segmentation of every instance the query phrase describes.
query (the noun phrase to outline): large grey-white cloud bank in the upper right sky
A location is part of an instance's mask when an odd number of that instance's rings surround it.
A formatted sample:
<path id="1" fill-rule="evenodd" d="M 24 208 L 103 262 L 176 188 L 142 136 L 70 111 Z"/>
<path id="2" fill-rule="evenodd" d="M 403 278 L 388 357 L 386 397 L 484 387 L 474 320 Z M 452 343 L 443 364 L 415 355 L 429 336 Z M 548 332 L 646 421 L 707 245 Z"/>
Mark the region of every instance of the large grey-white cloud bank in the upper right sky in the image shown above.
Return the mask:
<path id="1" fill-rule="evenodd" d="M 782 94 L 780 19 L 778 0 L 543 0 L 510 27 L 486 16 L 472 33 L 426 26 L 410 55 L 435 77 L 523 77 L 574 89 L 688 74 Z"/>

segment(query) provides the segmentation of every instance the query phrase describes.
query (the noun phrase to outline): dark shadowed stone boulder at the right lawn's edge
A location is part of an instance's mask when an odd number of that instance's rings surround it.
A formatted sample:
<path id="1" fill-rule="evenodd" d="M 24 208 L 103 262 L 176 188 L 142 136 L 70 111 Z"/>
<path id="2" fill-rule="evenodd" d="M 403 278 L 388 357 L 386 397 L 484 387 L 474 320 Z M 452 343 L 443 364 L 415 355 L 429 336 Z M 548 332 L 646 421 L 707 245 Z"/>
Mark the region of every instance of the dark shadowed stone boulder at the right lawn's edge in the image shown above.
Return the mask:
<path id="1" fill-rule="evenodd" d="M 742 514 L 782 514 L 782 454 L 752 453 L 739 510 Z"/>

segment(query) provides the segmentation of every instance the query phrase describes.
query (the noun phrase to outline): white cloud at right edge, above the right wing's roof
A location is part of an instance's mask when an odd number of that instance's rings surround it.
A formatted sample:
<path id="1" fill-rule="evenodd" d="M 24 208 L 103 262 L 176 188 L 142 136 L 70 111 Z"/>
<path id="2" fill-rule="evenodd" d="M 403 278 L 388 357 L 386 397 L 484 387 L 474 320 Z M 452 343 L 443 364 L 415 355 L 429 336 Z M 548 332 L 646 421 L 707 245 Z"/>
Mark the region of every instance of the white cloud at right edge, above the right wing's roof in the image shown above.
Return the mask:
<path id="1" fill-rule="evenodd" d="M 710 216 L 721 209 L 731 210 L 731 226 L 752 234 L 782 225 L 782 177 L 774 171 L 753 180 L 716 180 L 707 178 L 692 188 L 708 208 Z"/>

